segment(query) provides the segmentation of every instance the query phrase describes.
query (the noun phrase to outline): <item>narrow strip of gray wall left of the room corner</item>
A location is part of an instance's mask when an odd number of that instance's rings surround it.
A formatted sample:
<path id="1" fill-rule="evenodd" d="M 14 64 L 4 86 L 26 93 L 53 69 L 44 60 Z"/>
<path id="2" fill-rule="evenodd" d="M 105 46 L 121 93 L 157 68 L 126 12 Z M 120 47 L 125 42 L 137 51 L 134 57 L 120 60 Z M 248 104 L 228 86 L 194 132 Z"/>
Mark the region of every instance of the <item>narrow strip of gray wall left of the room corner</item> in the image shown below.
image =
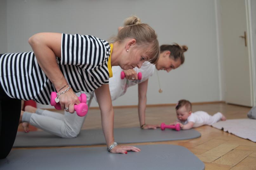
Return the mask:
<path id="1" fill-rule="evenodd" d="M 6 0 L 0 0 L 0 54 L 7 52 Z"/>

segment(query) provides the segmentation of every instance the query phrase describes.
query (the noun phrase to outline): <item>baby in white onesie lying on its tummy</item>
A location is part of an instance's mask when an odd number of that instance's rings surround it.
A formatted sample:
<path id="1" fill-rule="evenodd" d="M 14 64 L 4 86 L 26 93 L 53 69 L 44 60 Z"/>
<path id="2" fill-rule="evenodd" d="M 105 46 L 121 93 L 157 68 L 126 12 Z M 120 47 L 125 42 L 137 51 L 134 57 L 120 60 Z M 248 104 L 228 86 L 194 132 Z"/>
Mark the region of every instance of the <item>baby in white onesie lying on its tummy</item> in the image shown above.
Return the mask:
<path id="1" fill-rule="evenodd" d="M 183 130 L 199 127 L 205 124 L 212 125 L 219 120 L 226 120 L 226 117 L 220 112 L 215 113 L 213 116 L 204 111 L 192 113 L 192 105 L 188 100 L 179 100 L 175 109 L 178 119 L 173 124 L 179 123 Z"/>

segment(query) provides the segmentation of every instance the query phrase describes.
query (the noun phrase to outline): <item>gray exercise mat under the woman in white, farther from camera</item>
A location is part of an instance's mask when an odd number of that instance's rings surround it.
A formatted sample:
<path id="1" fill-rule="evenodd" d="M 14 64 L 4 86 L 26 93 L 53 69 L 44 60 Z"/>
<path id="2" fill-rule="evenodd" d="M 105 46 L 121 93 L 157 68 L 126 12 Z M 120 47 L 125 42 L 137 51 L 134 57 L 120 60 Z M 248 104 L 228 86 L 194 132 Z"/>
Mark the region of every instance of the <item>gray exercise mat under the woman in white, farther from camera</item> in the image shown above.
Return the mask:
<path id="1" fill-rule="evenodd" d="M 160 128 L 155 130 L 142 130 L 135 128 L 114 129 L 117 143 L 142 143 L 186 140 L 200 137 L 201 134 L 194 129 L 175 131 Z M 23 147 L 54 147 L 54 146 L 84 146 L 105 144 L 102 129 L 82 130 L 75 138 L 61 138 L 45 131 L 18 132 L 13 148 Z"/>

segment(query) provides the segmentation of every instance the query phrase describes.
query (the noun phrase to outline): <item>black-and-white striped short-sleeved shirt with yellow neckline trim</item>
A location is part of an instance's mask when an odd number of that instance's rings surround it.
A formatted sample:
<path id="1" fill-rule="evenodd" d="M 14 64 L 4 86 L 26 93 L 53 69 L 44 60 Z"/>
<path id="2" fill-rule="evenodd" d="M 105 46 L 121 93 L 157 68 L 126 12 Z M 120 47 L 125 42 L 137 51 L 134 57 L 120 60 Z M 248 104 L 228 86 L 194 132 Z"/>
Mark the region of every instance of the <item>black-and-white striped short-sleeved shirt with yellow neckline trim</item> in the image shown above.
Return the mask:
<path id="1" fill-rule="evenodd" d="M 94 36 L 62 34 L 61 58 L 56 61 L 74 92 L 91 92 L 108 84 L 112 76 L 110 46 Z M 34 52 L 2 54 L 0 76 L 1 87 L 11 98 L 49 104 L 51 92 L 56 91 Z"/>

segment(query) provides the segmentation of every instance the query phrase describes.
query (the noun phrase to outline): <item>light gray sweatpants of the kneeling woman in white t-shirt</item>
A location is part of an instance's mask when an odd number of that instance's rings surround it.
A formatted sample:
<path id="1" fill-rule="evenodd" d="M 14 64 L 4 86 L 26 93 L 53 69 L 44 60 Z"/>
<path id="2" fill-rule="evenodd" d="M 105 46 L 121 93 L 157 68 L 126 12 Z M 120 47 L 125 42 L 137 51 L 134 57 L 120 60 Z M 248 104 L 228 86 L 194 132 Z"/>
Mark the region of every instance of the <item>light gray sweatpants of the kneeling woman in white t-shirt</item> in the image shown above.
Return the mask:
<path id="1" fill-rule="evenodd" d="M 79 96 L 81 93 L 77 93 Z M 85 93 L 87 105 L 90 106 L 94 93 Z M 82 128 L 86 116 L 79 117 L 76 112 L 73 114 L 66 112 L 63 114 L 48 110 L 36 109 L 35 113 L 24 112 L 22 122 L 31 125 L 63 138 L 76 137 Z"/>

